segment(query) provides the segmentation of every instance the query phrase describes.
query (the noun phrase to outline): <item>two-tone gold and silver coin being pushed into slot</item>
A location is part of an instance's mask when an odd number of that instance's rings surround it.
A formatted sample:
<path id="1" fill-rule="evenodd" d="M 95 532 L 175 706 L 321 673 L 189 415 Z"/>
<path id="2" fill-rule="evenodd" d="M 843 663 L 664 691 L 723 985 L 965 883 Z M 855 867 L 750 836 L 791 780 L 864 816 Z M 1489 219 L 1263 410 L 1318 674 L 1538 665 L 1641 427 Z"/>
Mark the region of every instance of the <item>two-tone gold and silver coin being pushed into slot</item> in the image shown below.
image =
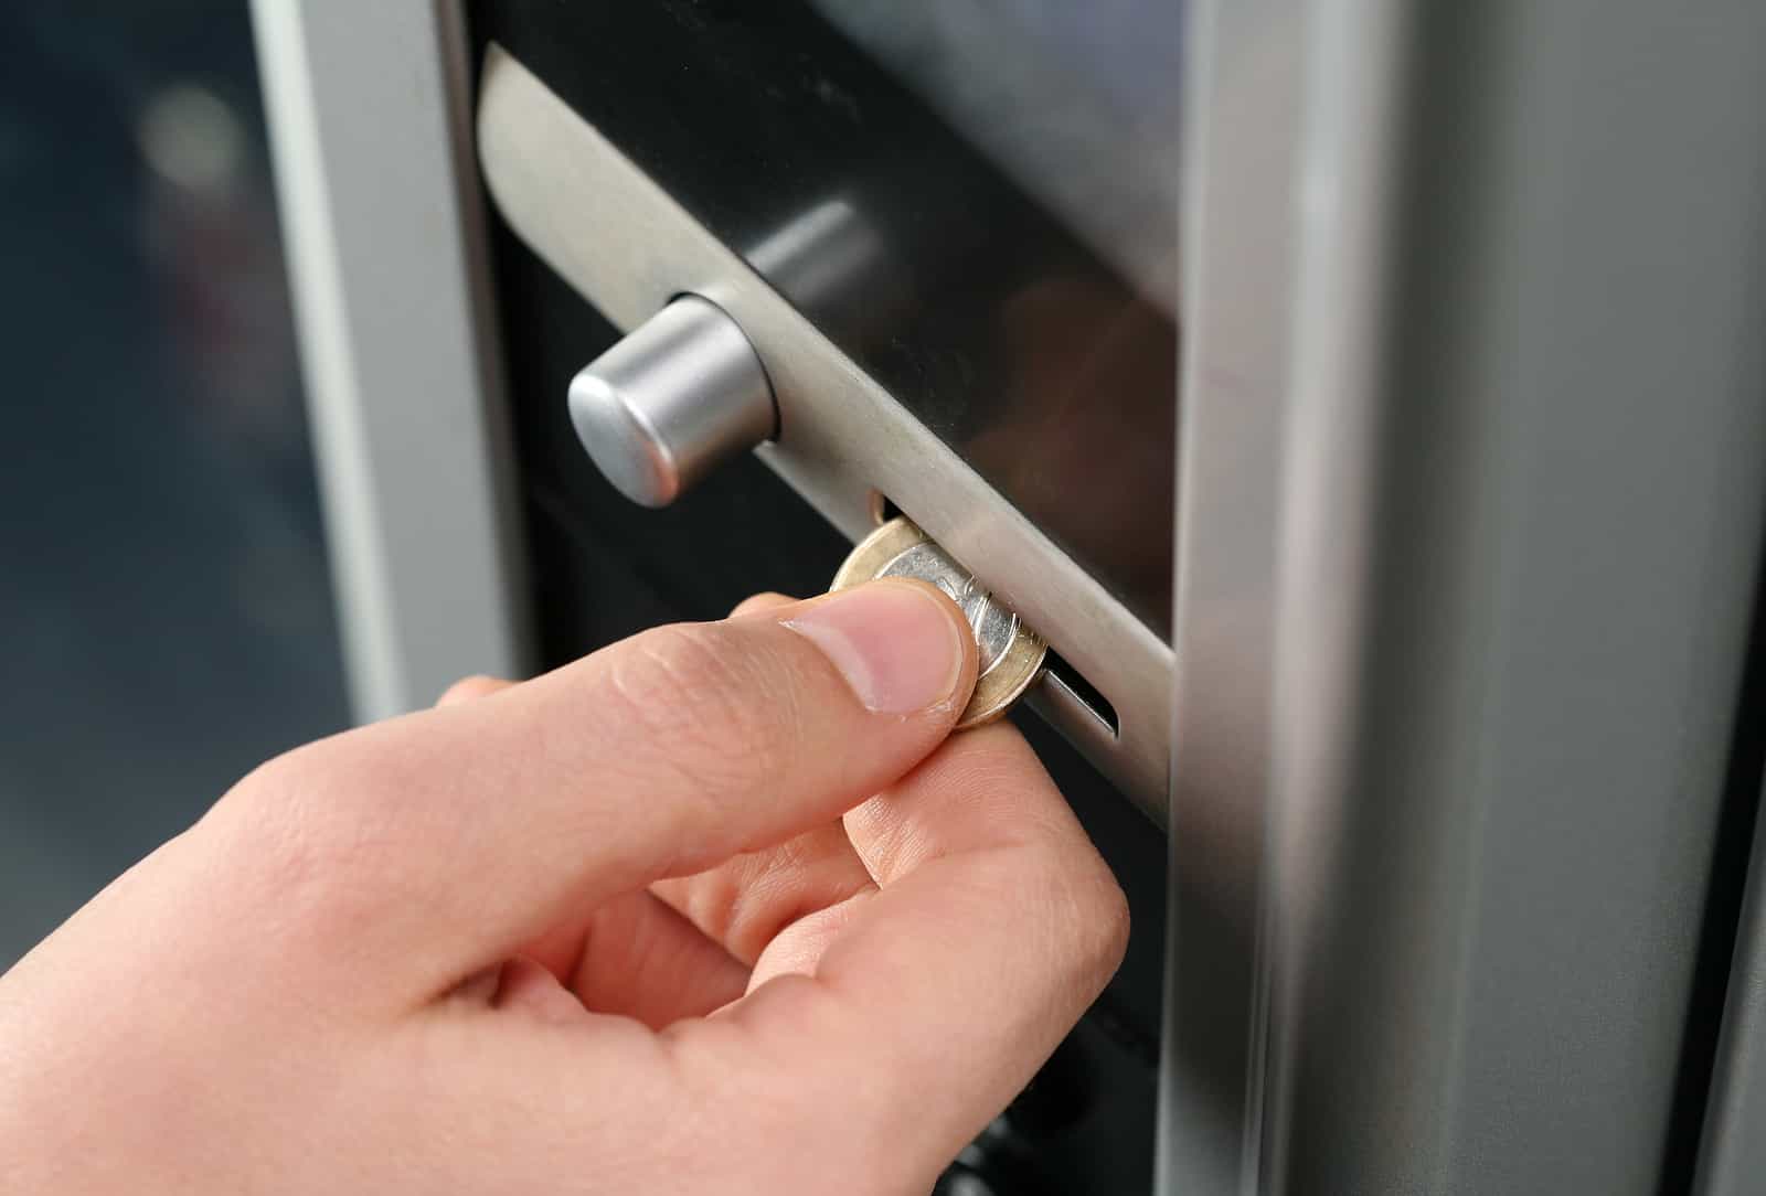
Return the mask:
<path id="1" fill-rule="evenodd" d="M 879 577 L 911 577 L 938 586 L 950 594 L 975 632 L 980 669 L 975 693 L 962 707 L 955 730 L 1000 718 L 1042 676 L 1042 662 L 1049 654 L 1042 637 L 994 602 L 966 568 L 906 517 L 892 519 L 860 540 L 828 589 L 851 589 Z"/>

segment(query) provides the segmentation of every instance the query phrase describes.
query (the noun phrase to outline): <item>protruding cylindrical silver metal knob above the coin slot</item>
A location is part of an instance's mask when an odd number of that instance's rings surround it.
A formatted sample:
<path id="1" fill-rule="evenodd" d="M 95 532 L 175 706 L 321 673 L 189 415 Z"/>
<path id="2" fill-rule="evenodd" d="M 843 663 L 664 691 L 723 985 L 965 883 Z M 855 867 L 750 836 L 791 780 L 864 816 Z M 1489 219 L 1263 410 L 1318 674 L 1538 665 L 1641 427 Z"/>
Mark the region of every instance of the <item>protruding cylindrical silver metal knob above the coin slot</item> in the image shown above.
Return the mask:
<path id="1" fill-rule="evenodd" d="M 719 460 L 770 439 L 777 411 L 736 321 L 683 295 L 570 379 L 570 422 L 625 497 L 668 506 Z"/>

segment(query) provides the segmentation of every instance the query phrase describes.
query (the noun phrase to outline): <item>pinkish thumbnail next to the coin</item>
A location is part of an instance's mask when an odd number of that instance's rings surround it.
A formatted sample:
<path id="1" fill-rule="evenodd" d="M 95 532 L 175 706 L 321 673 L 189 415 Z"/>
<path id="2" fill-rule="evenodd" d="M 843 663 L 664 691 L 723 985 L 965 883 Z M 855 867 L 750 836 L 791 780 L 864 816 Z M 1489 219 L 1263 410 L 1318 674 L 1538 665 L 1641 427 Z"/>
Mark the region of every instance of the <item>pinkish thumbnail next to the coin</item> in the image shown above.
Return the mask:
<path id="1" fill-rule="evenodd" d="M 865 709 L 948 706 L 962 676 L 966 624 L 913 582 L 871 582 L 811 603 L 784 626 L 821 649 Z"/>

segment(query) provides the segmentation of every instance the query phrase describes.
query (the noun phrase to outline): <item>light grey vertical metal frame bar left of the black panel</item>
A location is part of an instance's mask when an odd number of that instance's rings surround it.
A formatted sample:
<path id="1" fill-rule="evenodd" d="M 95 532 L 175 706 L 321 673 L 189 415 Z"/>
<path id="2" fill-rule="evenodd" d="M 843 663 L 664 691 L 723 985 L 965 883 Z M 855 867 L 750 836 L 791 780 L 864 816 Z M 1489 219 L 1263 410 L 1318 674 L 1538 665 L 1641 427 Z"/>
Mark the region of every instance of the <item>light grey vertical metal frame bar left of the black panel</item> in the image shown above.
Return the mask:
<path id="1" fill-rule="evenodd" d="M 254 0 L 357 718 L 525 651 L 457 0 Z"/>

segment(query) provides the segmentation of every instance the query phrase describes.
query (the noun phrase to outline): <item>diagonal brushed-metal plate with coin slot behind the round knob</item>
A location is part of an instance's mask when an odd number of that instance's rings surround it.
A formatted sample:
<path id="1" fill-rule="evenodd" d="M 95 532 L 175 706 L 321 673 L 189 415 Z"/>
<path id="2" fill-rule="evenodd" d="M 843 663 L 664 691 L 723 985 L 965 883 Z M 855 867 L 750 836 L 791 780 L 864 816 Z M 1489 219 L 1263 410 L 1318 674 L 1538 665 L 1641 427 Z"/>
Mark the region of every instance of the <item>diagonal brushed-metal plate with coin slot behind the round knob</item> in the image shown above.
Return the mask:
<path id="1" fill-rule="evenodd" d="M 1053 691 L 1038 709 L 1164 817 L 1173 656 L 1158 635 L 496 46 L 480 83 L 479 155 L 514 231 L 613 323 L 634 328 L 682 293 L 729 312 L 779 402 L 779 439 L 761 459 L 853 540 L 872 527 L 872 490 L 899 503 L 1107 697 L 1116 737 Z"/>

